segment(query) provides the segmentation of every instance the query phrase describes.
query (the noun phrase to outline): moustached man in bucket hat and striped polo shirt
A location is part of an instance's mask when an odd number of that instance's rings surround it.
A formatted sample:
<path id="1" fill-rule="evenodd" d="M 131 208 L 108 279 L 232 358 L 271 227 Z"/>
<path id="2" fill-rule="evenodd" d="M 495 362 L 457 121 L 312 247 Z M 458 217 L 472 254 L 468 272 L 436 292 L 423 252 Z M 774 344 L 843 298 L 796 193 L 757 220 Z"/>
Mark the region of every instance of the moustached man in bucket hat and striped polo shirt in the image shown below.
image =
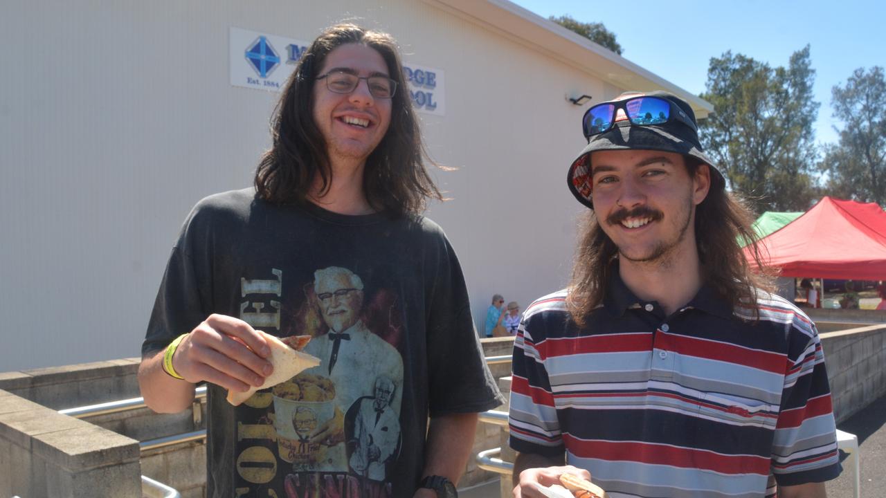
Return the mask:
<path id="1" fill-rule="evenodd" d="M 568 471 L 617 496 L 825 496 L 840 464 L 818 333 L 750 272 L 752 218 L 692 108 L 625 94 L 582 128 L 571 283 L 514 346 L 514 495 Z"/>

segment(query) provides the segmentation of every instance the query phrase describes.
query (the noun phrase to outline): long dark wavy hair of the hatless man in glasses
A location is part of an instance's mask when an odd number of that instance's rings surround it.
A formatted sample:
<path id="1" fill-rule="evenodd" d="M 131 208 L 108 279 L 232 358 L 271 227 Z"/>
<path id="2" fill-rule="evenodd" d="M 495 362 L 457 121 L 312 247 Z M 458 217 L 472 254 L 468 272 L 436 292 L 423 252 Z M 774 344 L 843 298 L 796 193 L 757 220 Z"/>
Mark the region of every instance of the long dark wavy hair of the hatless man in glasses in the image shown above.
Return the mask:
<path id="1" fill-rule="evenodd" d="M 260 198 L 274 204 L 303 204 L 319 175 L 321 193 L 328 191 L 332 170 L 326 142 L 314 122 L 311 96 L 326 57 L 347 43 L 360 43 L 377 51 L 397 82 L 391 124 L 369 154 L 363 171 L 363 191 L 369 206 L 394 216 L 421 213 L 428 198 L 441 200 L 442 196 L 425 168 L 427 154 L 397 44 L 391 35 L 354 24 L 326 28 L 299 59 L 276 105 L 271 123 L 274 144 L 262 155 L 255 171 L 255 189 Z"/>

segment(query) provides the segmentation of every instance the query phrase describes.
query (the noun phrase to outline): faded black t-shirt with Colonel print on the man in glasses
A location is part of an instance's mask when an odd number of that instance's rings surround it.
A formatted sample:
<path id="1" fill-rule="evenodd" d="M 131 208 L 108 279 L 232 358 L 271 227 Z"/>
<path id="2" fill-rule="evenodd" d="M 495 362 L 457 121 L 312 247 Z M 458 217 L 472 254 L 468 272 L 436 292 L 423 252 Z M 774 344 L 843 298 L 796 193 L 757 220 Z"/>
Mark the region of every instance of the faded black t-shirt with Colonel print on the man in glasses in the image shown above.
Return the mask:
<path id="1" fill-rule="evenodd" d="M 321 364 L 238 407 L 209 385 L 210 497 L 412 496 L 427 417 L 502 401 L 462 269 L 424 217 L 273 206 L 253 189 L 205 198 L 170 256 L 143 354 L 213 313 L 311 335 Z M 338 429 L 312 442 L 324 426 Z"/>

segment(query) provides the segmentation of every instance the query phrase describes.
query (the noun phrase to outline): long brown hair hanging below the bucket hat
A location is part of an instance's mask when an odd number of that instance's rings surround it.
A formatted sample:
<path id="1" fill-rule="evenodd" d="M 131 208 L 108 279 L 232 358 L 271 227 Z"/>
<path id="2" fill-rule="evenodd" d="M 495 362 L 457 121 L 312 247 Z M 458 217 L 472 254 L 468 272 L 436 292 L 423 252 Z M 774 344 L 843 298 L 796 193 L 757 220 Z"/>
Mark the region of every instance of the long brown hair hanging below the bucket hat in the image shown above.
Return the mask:
<path id="1" fill-rule="evenodd" d="M 704 163 L 692 156 L 684 158 L 689 176 L 694 177 Z M 756 317 L 756 290 L 772 291 L 773 286 L 771 271 L 763 263 L 756 242 L 758 237 L 750 228 L 753 221 L 750 210 L 721 185 L 711 185 L 707 197 L 696 206 L 696 247 L 703 283 L 733 307 L 750 307 L 751 315 Z M 743 243 L 747 243 L 756 268 L 744 257 Z M 603 232 L 594 212 L 588 212 L 579 228 L 579 247 L 566 298 L 566 307 L 579 327 L 584 327 L 591 312 L 602 305 L 617 255 L 618 247 Z"/>

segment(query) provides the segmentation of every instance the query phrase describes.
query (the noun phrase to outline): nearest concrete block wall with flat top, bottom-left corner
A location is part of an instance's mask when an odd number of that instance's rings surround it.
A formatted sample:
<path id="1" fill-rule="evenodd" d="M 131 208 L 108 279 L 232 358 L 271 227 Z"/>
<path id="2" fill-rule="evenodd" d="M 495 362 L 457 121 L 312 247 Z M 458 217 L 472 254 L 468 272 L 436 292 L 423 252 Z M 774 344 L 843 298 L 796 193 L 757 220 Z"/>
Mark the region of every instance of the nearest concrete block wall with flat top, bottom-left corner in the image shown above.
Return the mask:
<path id="1" fill-rule="evenodd" d="M 141 496 L 138 441 L 0 391 L 0 496 Z"/>

